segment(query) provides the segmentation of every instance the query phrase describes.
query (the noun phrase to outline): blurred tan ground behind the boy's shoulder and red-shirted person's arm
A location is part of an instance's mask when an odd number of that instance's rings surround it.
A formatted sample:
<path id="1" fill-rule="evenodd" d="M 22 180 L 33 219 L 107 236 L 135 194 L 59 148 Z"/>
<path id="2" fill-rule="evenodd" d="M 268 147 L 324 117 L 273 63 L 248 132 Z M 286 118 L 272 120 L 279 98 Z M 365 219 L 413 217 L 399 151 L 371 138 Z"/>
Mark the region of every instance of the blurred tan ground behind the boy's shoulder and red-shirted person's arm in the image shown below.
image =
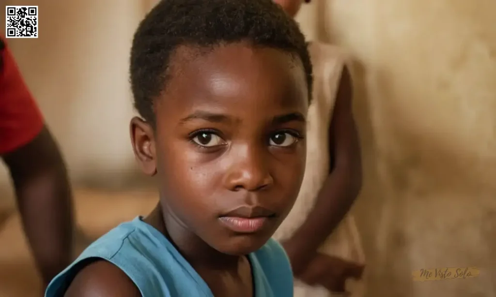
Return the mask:
<path id="1" fill-rule="evenodd" d="M 153 192 L 76 191 L 77 223 L 89 239 L 105 234 L 136 215 L 146 215 L 156 204 Z M 79 240 L 78 249 L 84 248 Z M 40 297 L 40 280 L 22 233 L 18 214 L 0 214 L 0 297 Z"/>

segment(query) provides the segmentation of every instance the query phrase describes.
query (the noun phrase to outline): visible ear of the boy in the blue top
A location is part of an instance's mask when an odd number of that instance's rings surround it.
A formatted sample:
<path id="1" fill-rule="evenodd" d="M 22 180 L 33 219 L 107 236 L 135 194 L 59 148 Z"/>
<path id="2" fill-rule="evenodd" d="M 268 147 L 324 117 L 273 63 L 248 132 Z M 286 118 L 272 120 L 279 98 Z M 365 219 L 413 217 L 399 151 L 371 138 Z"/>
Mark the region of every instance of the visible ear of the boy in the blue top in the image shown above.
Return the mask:
<path id="1" fill-rule="evenodd" d="M 133 117 L 129 125 L 132 149 L 141 170 L 149 176 L 157 173 L 155 139 L 152 126 L 139 117 Z"/>

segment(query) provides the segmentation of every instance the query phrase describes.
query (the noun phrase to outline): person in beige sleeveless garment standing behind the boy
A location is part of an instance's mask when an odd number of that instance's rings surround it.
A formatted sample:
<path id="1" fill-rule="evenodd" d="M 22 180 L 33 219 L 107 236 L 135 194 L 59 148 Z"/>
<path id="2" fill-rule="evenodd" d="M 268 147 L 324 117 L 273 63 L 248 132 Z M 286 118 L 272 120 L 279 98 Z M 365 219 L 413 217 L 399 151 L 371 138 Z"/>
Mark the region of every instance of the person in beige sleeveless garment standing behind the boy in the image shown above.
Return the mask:
<path id="1" fill-rule="evenodd" d="M 274 1 L 291 17 L 304 2 Z M 347 215 L 362 186 L 362 164 L 346 54 L 318 42 L 309 51 L 314 85 L 307 166 L 299 197 L 275 238 L 289 255 L 295 297 L 329 297 L 345 293 L 347 279 L 361 278 L 364 269 L 360 236 Z M 352 296 L 360 296 L 358 288 Z"/>

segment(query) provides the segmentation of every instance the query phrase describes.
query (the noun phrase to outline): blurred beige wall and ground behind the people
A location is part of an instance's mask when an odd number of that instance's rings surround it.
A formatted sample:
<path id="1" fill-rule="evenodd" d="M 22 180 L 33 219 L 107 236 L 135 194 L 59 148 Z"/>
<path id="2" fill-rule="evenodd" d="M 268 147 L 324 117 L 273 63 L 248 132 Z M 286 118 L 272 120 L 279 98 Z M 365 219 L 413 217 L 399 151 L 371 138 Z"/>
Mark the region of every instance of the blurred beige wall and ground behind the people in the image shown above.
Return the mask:
<path id="1" fill-rule="evenodd" d="M 8 43 L 62 147 L 91 237 L 156 202 L 134 167 L 127 80 L 133 31 L 153 2 L 0 0 L 39 5 L 39 38 Z M 496 296 L 495 17 L 494 0 L 312 0 L 298 16 L 309 40 L 355 60 L 365 184 L 352 211 L 367 297 Z M 4 170 L 0 193 L 0 297 L 36 296 Z M 441 267 L 481 273 L 412 280 Z"/>

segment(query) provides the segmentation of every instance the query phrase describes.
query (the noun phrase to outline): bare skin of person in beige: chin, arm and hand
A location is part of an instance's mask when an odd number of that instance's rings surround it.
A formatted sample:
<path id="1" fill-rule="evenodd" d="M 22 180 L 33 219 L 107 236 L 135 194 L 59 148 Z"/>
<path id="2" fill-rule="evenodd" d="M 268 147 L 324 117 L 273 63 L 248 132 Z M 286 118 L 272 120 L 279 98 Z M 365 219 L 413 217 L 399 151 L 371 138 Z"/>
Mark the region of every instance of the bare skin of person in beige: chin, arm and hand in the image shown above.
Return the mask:
<path id="1" fill-rule="evenodd" d="M 292 17 L 304 2 L 274 1 Z M 316 252 L 338 227 L 362 188 L 362 162 L 353 119 L 352 89 L 351 77 L 345 68 L 329 126 L 329 176 L 307 220 L 291 239 L 283 243 L 295 276 L 309 285 L 322 285 L 332 292 L 344 292 L 346 279 L 360 278 L 364 269 L 357 263 Z"/>

